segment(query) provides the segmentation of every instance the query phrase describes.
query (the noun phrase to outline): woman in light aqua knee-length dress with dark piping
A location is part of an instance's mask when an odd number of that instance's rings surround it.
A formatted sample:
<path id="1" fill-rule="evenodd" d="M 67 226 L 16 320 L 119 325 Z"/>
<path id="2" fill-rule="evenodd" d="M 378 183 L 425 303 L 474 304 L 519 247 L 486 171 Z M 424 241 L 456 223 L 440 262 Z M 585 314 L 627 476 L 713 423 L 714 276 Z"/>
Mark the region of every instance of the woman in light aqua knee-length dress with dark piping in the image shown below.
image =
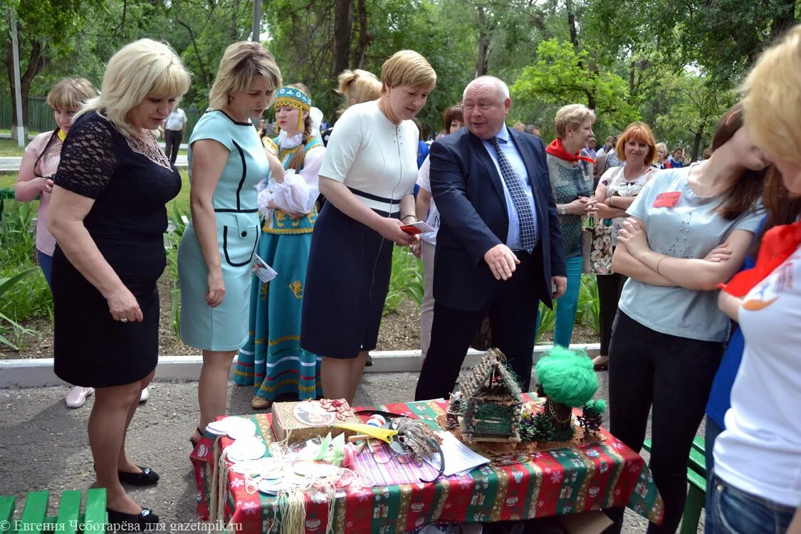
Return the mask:
<path id="1" fill-rule="evenodd" d="M 178 250 L 181 339 L 203 349 L 199 425 L 225 415 L 228 373 L 248 340 L 253 252 L 259 240 L 256 184 L 278 159 L 265 155 L 251 122 L 281 85 L 275 59 L 257 42 L 228 46 L 209 95 L 211 110 L 189 139 L 192 220 Z"/>

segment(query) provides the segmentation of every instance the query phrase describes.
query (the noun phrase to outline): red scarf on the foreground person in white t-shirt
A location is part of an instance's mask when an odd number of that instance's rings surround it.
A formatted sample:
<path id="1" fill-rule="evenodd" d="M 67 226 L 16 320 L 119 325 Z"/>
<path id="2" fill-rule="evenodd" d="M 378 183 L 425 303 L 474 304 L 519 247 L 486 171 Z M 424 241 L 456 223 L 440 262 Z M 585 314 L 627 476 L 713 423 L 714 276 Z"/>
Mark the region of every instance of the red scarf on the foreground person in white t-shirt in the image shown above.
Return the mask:
<path id="1" fill-rule="evenodd" d="M 729 283 L 718 285 L 723 291 L 735 297 L 744 297 L 756 284 L 762 282 L 776 267 L 790 257 L 801 244 L 801 221 L 783 224 L 768 230 L 759 247 L 756 265 L 737 273 Z"/>

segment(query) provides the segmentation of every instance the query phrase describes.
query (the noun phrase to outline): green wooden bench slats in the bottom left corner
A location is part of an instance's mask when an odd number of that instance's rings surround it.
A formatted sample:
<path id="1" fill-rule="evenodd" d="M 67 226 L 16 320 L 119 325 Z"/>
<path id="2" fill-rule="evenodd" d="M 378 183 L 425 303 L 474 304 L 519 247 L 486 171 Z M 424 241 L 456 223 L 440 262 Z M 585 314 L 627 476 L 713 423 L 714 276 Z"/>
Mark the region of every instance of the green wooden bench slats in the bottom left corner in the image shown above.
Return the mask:
<path id="1" fill-rule="evenodd" d="M 32 532 L 34 534 L 58 532 L 58 534 L 105 534 L 108 516 L 106 512 L 106 488 L 87 491 L 86 511 L 81 513 L 82 493 L 63 492 L 58 516 L 47 515 L 49 492 L 30 492 L 19 519 L 14 519 L 14 496 L 0 496 L 0 534 L 6 532 Z"/>

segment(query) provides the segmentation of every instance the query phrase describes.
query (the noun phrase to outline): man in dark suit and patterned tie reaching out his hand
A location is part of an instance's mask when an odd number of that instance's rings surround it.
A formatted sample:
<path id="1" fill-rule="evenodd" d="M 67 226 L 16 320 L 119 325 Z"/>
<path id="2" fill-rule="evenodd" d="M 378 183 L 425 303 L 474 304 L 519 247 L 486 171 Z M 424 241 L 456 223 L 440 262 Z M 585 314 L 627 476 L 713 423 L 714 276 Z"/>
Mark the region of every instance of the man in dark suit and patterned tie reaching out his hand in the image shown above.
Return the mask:
<path id="1" fill-rule="evenodd" d="M 440 211 L 434 320 L 415 399 L 446 397 L 481 320 L 528 391 L 538 302 L 565 292 L 562 233 L 542 141 L 505 125 L 509 88 L 481 76 L 465 88 L 465 129 L 433 143 Z M 554 289 L 555 288 L 555 289 Z"/>

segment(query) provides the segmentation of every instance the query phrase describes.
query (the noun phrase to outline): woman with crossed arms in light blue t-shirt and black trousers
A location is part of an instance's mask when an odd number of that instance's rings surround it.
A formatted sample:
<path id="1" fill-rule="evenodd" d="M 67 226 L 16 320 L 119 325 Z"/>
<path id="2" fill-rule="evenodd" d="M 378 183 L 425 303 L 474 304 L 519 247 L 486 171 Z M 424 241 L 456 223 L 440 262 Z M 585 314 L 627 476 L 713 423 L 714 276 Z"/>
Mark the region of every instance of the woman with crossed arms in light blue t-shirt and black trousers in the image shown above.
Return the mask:
<path id="1" fill-rule="evenodd" d="M 737 104 L 718 122 L 704 163 L 660 171 L 626 210 L 612 268 L 629 279 L 610 345 L 610 432 L 639 452 L 653 405 L 650 468 L 674 532 L 686 498 L 687 459 L 729 322 L 716 288 L 743 264 L 762 219 L 767 161 Z M 621 520 L 622 509 L 610 511 Z"/>

